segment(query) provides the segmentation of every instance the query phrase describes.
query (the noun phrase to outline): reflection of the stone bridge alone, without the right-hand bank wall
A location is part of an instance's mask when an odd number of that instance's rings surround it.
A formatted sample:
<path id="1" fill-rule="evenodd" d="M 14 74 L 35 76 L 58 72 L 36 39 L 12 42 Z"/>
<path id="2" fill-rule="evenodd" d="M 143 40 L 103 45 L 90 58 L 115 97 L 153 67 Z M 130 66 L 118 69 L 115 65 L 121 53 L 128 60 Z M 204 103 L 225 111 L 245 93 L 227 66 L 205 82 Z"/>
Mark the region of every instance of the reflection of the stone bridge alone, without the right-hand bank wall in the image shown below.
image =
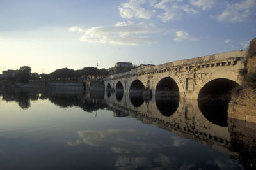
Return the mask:
<path id="1" fill-rule="evenodd" d="M 236 155 L 228 150 L 231 138 L 227 121 L 223 125 L 223 121 L 219 123 L 211 122 L 211 118 L 207 120 L 208 117 L 200 111 L 195 100 L 184 101 L 166 96 L 153 96 L 151 100 L 144 101 L 142 96 L 131 97 L 126 93 L 122 94 L 123 97 L 120 100 L 117 96 L 113 93 L 110 97 L 107 95 L 104 97 L 104 101 L 114 112 L 129 113 L 147 124 L 157 125 L 179 136 Z M 209 110 L 204 110 L 204 113 L 207 111 Z"/>

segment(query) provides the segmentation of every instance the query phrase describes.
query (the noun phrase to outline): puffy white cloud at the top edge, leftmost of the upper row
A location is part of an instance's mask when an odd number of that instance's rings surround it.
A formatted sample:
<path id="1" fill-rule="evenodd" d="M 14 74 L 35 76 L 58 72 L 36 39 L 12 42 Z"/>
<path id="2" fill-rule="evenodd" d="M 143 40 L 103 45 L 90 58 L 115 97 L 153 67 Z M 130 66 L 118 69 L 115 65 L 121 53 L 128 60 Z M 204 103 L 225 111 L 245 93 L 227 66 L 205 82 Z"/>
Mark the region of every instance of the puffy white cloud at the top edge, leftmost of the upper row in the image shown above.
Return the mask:
<path id="1" fill-rule="evenodd" d="M 155 10 L 147 10 L 143 8 L 141 5 L 147 3 L 146 0 L 129 0 L 127 3 L 123 3 L 119 8 L 119 14 L 123 18 L 131 19 L 131 18 L 143 18 L 149 19 L 151 18 Z"/>

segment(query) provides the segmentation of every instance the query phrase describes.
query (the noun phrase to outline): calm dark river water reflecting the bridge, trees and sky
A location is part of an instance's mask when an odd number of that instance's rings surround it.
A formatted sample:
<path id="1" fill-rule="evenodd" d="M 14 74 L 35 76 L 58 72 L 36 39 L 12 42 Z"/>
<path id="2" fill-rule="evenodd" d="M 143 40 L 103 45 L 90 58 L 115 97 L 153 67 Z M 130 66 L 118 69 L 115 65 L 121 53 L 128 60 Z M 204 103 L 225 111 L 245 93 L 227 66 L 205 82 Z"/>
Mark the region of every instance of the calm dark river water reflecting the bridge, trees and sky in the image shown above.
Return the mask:
<path id="1" fill-rule="evenodd" d="M 254 124 L 228 120 L 221 103 L 110 92 L 0 93 L 0 169 L 249 169 L 255 134 Z"/>

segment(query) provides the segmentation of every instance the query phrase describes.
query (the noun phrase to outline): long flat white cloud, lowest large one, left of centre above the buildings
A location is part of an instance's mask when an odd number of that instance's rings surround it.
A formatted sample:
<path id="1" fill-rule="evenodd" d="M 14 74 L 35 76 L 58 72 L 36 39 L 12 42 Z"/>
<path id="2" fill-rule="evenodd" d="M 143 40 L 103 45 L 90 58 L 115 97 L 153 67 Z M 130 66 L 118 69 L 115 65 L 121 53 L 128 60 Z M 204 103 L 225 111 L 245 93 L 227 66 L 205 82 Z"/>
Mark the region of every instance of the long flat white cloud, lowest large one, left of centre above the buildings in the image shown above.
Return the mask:
<path id="1" fill-rule="evenodd" d="M 83 29 L 81 27 L 71 27 L 70 31 L 83 32 L 80 41 L 89 43 L 109 43 L 117 45 L 148 45 L 156 42 L 145 34 L 159 32 L 154 24 L 140 22 L 134 24 L 131 21 L 117 22 L 111 27 L 92 27 Z M 141 35 L 143 34 L 143 35 Z"/>

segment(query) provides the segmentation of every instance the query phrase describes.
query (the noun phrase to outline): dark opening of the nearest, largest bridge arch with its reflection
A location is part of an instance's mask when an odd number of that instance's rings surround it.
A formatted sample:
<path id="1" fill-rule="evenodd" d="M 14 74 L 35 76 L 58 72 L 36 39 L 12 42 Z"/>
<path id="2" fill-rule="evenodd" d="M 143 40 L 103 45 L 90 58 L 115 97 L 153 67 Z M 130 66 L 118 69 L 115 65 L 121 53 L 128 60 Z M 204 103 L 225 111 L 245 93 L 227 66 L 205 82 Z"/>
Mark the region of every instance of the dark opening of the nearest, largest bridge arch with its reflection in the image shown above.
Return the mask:
<path id="1" fill-rule="evenodd" d="M 235 81 L 218 78 L 209 81 L 198 94 L 198 106 L 202 114 L 212 124 L 227 127 L 228 103 L 232 89 L 239 86 Z"/>

